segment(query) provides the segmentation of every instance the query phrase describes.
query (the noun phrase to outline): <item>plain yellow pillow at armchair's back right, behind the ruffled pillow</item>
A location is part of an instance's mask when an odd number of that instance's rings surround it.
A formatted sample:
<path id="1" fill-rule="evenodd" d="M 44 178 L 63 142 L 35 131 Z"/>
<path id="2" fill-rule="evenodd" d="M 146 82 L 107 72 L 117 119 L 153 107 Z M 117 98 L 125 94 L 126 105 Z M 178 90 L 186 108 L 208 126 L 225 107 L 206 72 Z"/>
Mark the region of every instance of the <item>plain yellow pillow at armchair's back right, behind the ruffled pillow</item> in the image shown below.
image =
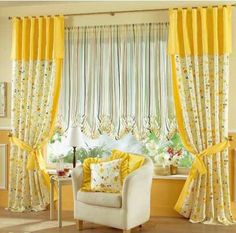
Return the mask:
<path id="1" fill-rule="evenodd" d="M 119 151 L 119 150 L 112 150 L 112 156 L 114 157 L 127 157 L 128 156 L 128 161 L 129 161 L 129 165 L 128 165 L 128 174 L 135 171 L 136 169 L 140 168 L 145 160 L 145 157 L 140 156 L 140 155 L 136 155 L 136 154 L 131 154 L 131 153 L 126 153 L 123 151 Z"/>

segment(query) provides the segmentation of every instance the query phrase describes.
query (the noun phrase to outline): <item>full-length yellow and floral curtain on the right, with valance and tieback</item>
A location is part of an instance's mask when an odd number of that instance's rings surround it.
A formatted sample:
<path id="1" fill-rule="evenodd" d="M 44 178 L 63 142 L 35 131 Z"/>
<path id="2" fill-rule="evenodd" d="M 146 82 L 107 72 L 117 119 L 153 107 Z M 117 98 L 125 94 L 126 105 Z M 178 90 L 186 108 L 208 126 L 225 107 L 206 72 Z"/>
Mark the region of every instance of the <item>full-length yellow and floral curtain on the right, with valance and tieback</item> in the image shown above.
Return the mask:
<path id="1" fill-rule="evenodd" d="M 191 222 L 233 223 L 228 169 L 231 7 L 170 10 L 178 130 L 195 160 L 175 209 Z"/>

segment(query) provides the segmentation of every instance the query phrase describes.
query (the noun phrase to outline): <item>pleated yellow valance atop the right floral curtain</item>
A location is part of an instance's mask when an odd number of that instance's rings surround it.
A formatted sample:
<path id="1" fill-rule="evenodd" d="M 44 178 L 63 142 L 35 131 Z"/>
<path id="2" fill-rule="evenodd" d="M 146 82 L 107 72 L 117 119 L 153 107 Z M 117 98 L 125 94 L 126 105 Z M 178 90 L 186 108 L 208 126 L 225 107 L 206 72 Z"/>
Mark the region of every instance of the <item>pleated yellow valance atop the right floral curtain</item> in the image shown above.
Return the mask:
<path id="1" fill-rule="evenodd" d="M 168 50 L 171 55 L 231 52 L 231 6 L 171 9 L 169 17 Z"/>

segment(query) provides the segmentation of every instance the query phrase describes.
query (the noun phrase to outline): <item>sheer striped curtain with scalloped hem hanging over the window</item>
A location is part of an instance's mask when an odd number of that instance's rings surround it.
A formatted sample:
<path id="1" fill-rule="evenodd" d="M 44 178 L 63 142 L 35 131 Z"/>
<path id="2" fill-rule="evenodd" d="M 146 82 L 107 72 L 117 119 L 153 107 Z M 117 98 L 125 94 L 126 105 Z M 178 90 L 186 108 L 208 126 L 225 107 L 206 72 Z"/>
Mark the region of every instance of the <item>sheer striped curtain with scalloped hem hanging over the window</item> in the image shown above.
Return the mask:
<path id="1" fill-rule="evenodd" d="M 166 23 L 65 30 L 60 119 L 92 138 L 174 127 Z M 68 110 L 69 107 L 69 110 Z"/>

